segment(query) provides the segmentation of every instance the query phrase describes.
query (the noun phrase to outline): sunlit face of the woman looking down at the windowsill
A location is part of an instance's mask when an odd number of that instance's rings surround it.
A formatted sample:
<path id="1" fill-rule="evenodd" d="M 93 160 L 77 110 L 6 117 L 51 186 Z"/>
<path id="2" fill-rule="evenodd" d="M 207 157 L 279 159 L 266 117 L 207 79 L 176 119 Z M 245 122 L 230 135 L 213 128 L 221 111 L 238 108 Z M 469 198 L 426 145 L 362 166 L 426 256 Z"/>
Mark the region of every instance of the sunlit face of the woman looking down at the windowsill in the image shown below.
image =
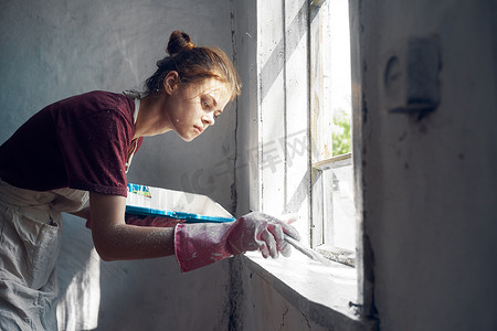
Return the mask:
<path id="1" fill-rule="evenodd" d="M 229 100 L 228 85 L 215 78 L 179 84 L 169 95 L 169 121 L 183 140 L 191 141 L 214 125 Z"/>

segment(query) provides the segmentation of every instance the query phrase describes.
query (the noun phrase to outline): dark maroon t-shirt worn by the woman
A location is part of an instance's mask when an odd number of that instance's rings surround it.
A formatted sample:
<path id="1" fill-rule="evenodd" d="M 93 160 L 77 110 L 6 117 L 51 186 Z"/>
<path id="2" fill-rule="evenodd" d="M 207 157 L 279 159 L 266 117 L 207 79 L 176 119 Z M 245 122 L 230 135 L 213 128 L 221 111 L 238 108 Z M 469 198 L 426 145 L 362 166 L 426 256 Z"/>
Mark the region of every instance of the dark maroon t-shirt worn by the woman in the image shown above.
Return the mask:
<path id="1" fill-rule="evenodd" d="M 134 111 L 131 98 L 108 92 L 52 104 L 0 146 L 0 178 L 28 190 L 71 188 L 126 196 Z"/>

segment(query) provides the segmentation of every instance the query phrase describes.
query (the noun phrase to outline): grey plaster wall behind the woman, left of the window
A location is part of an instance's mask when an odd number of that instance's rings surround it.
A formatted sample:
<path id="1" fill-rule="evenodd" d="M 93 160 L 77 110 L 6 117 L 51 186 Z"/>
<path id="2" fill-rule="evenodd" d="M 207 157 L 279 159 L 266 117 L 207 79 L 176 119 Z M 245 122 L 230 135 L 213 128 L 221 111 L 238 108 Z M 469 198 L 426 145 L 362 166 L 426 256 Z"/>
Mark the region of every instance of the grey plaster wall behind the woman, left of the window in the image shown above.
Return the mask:
<path id="1" fill-rule="evenodd" d="M 0 141 L 45 105 L 71 95 L 140 87 L 166 55 L 169 34 L 232 56 L 229 0 L 2 1 Z M 138 182 L 209 194 L 233 206 L 235 108 L 187 143 L 146 139 L 128 174 Z M 42 162 L 43 160 L 38 160 Z M 222 330 L 229 320 L 228 264 L 181 275 L 173 257 L 101 263 L 89 232 L 66 217 L 60 263 L 63 329 Z"/>

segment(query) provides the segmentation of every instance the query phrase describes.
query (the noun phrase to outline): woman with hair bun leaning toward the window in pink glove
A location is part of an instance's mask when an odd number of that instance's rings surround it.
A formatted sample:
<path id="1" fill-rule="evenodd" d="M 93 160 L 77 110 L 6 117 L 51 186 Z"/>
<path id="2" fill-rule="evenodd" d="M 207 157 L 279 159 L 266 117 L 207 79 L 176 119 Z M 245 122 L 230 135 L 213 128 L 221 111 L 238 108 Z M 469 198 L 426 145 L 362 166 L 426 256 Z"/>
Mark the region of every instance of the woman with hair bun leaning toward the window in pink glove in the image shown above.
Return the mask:
<path id="1" fill-rule="evenodd" d="M 125 221 L 126 172 L 142 138 L 200 136 L 240 94 L 228 56 L 175 31 L 142 98 L 92 92 L 50 105 L 0 147 L 0 329 L 55 330 L 61 212 L 85 217 L 104 260 L 176 255 L 189 271 L 260 249 L 289 254 L 288 224 L 252 213 L 229 224 Z M 142 224 L 144 222 L 141 222 Z M 138 224 L 138 223 L 137 223 Z"/>

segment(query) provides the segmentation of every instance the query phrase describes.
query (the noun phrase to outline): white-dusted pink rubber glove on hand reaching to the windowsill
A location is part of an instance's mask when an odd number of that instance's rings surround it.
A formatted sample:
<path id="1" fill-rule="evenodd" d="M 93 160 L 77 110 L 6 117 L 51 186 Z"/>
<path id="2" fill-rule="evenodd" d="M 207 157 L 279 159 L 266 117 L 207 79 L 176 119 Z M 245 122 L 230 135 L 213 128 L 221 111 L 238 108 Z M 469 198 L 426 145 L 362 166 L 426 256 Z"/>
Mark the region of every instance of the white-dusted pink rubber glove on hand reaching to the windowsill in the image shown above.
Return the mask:
<path id="1" fill-rule="evenodd" d="M 175 253 L 182 273 L 198 269 L 246 250 L 276 258 L 289 256 L 284 234 L 299 241 L 289 224 L 264 213 L 250 213 L 231 223 L 178 224 Z"/>

